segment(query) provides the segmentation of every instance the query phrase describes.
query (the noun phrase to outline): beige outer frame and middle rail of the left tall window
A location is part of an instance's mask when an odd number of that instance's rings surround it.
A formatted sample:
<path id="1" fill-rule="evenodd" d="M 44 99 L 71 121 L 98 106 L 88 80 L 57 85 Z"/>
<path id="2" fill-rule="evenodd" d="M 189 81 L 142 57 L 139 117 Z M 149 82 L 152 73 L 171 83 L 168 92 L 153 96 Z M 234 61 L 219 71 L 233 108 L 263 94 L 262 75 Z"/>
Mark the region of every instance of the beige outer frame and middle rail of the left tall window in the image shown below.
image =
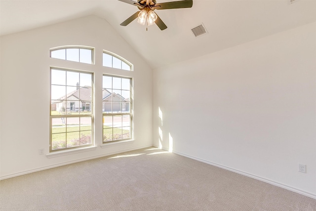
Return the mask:
<path id="1" fill-rule="evenodd" d="M 65 115 L 51 115 L 51 107 L 52 107 L 52 103 L 51 103 L 51 71 L 52 70 L 62 70 L 62 71 L 70 71 L 70 72 L 79 72 L 79 73 L 87 73 L 87 74 L 91 74 L 91 102 L 90 102 L 90 114 L 78 114 L 78 115 L 67 115 L 67 108 L 66 108 L 66 114 Z M 71 68 L 62 68 L 62 67 L 55 67 L 55 66 L 50 66 L 49 67 L 49 155 L 55 152 L 68 152 L 68 151 L 73 151 L 73 150 L 77 150 L 77 149 L 82 149 L 82 148 L 91 148 L 93 146 L 95 146 L 95 140 L 94 140 L 94 72 L 91 71 L 85 71 L 85 70 L 78 70 L 78 69 L 71 69 Z M 65 85 L 67 86 L 67 84 Z M 67 94 L 67 93 L 66 93 Z M 71 102 L 71 101 L 70 101 Z M 62 149 L 56 149 L 56 150 L 52 150 L 52 119 L 53 118 L 62 118 L 62 117 L 91 117 L 91 143 L 90 144 L 86 144 L 86 145 L 81 145 L 81 146 L 74 146 L 74 147 L 69 147 L 67 148 L 67 145 L 65 148 Z M 66 126 L 67 127 L 67 126 Z M 66 132 L 67 133 L 67 132 Z"/>

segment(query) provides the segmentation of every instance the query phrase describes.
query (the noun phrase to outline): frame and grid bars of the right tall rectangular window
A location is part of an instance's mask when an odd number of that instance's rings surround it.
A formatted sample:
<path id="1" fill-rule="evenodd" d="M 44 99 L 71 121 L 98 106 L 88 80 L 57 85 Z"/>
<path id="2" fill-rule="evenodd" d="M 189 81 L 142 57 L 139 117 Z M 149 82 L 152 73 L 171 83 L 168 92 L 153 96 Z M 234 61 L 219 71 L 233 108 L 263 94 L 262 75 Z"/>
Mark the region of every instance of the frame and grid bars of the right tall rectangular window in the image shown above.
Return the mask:
<path id="1" fill-rule="evenodd" d="M 129 100 L 129 112 L 126 112 L 126 111 L 122 111 L 122 107 L 121 107 L 121 111 L 120 111 L 120 113 L 114 113 L 113 112 L 113 110 L 112 110 L 112 112 L 110 113 L 110 112 L 108 112 L 108 113 L 106 113 L 106 112 L 104 112 L 103 111 L 103 103 L 105 102 L 105 101 L 103 101 L 103 99 L 102 99 L 102 121 L 104 121 L 104 117 L 105 116 L 112 116 L 112 121 L 113 121 L 113 118 L 114 118 L 114 116 L 121 116 L 122 118 L 123 118 L 123 116 L 124 115 L 129 115 L 129 127 L 130 127 L 130 137 L 129 138 L 122 138 L 122 139 L 117 139 L 117 140 L 113 140 L 113 128 L 119 128 L 119 127 L 114 127 L 113 125 L 112 125 L 112 141 L 104 141 L 104 123 L 102 123 L 102 144 L 107 144 L 107 143 L 113 143 L 113 142 L 119 142 L 119 141 L 126 141 L 126 140 L 133 140 L 133 106 L 134 106 L 134 102 L 133 102 L 133 82 L 134 82 L 134 80 L 133 80 L 133 78 L 132 77 L 126 77 L 126 76 L 118 76 L 118 75 L 111 75 L 111 74 L 103 74 L 102 75 L 102 84 L 103 84 L 103 76 L 107 76 L 107 77 L 112 77 L 112 79 L 113 78 L 120 78 L 120 79 L 129 79 L 130 80 L 130 100 Z M 113 83 L 113 81 L 112 81 L 112 83 Z M 113 87 L 113 84 L 112 84 L 112 87 Z M 103 91 L 103 85 L 102 85 L 102 91 Z M 113 88 L 112 88 L 113 89 Z M 122 89 L 122 87 L 120 88 L 120 90 L 125 90 L 125 89 Z M 113 93 L 113 92 L 112 92 Z M 111 102 L 117 102 L 117 101 L 113 101 L 113 99 L 112 99 L 112 101 Z M 122 103 L 122 101 L 120 101 L 121 103 Z M 126 106 L 126 105 L 125 105 Z M 112 109 L 113 109 L 113 104 L 112 104 Z M 126 109 L 126 108 L 125 108 Z M 122 120 L 122 124 L 123 124 L 123 120 Z M 121 126 L 121 128 L 123 129 L 123 125 Z"/>

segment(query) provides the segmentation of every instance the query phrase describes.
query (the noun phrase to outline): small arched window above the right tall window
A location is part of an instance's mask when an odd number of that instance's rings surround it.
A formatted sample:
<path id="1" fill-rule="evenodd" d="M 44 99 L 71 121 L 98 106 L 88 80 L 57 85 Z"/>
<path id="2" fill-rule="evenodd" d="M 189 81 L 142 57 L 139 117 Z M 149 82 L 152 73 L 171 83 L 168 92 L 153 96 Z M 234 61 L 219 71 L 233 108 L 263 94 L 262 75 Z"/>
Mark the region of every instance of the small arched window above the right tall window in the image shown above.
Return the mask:
<path id="1" fill-rule="evenodd" d="M 132 71 L 133 69 L 131 63 L 109 51 L 103 51 L 103 66 L 128 71 Z"/>

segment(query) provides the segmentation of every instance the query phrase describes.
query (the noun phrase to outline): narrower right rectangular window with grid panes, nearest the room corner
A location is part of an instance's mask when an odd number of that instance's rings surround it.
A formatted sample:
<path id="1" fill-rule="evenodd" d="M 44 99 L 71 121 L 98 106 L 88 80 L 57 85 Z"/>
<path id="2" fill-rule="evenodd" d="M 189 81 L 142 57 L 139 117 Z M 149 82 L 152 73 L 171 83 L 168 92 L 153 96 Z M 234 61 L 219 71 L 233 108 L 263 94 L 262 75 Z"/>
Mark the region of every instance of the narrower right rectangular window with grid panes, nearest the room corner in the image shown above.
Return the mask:
<path id="1" fill-rule="evenodd" d="M 103 143 L 132 137 L 132 80 L 103 76 Z"/>

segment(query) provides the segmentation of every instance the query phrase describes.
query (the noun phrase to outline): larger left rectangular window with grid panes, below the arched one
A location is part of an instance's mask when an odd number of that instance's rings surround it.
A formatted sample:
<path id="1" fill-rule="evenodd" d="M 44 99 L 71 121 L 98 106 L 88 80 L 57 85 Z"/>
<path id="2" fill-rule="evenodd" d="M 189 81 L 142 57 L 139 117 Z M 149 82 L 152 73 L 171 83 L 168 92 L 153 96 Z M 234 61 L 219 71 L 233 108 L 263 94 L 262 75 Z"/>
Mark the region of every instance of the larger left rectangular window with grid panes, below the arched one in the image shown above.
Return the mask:
<path id="1" fill-rule="evenodd" d="M 93 74 L 57 68 L 50 74 L 49 151 L 92 145 Z"/>

